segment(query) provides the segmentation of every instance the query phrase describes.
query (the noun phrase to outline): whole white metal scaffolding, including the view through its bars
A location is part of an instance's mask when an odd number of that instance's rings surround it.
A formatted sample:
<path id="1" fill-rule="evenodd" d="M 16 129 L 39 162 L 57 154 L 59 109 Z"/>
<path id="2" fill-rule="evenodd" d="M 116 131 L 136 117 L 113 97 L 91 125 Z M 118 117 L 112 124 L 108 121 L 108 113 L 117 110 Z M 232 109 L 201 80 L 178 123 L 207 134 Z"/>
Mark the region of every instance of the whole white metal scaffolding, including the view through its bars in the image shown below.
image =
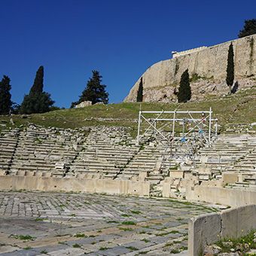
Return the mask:
<path id="1" fill-rule="evenodd" d="M 151 131 L 154 139 L 171 148 L 171 152 L 186 144 L 189 154 L 193 155 L 198 142 L 210 147 L 217 136 L 218 119 L 212 115 L 212 108 L 209 111 L 139 111 L 137 144 Z"/>

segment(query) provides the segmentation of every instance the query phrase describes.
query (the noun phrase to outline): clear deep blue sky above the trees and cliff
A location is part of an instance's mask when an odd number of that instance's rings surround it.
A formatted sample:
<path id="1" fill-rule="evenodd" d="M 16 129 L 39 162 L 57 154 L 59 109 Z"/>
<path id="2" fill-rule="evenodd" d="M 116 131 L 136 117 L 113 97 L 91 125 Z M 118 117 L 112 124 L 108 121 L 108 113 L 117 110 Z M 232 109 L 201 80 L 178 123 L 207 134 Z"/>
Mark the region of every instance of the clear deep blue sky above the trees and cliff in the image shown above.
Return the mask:
<path id="1" fill-rule="evenodd" d="M 44 90 L 69 108 L 98 70 L 121 102 L 149 66 L 172 50 L 219 44 L 256 18 L 255 0 L 0 0 L 0 76 L 12 100 L 29 92 L 39 66 Z"/>

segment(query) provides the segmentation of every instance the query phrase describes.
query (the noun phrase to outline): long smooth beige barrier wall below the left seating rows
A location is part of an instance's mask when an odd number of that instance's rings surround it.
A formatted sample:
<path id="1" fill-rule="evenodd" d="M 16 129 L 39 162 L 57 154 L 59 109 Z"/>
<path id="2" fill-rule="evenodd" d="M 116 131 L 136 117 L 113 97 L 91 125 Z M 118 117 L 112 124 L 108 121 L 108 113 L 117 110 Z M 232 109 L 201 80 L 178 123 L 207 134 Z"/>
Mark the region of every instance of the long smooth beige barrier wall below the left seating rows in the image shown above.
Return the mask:
<path id="1" fill-rule="evenodd" d="M 150 183 L 93 178 L 0 176 L 0 190 L 73 191 L 149 196 Z"/>

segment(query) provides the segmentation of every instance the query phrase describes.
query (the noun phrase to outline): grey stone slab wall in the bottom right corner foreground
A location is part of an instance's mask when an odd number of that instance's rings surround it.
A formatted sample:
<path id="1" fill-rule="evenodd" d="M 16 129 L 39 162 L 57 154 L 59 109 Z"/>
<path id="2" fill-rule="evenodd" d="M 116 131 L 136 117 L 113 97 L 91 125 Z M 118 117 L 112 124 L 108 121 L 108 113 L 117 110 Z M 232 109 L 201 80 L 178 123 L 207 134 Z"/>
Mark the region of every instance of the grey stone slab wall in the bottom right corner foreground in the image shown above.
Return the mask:
<path id="1" fill-rule="evenodd" d="M 188 252 L 190 256 L 203 254 L 205 245 L 223 238 L 238 238 L 256 229 L 256 206 L 241 206 L 221 213 L 191 218 L 188 223 Z"/>

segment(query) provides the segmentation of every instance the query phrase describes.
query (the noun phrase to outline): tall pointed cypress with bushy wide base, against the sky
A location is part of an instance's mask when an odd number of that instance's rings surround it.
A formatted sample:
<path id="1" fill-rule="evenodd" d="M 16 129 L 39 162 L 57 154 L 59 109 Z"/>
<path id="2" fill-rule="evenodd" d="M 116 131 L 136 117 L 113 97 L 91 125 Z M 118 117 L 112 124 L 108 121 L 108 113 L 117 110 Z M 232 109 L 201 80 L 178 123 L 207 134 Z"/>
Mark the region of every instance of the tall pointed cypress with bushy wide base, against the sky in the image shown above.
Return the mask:
<path id="1" fill-rule="evenodd" d="M 50 111 L 53 100 L 50 94 L 43 91 L 44 88 L 44 67 L 40 66 L 35 75 L 35 81 L 29 94 L 24 96 L 20 106 L 20 112 L 23 114 L 44 113 Z"/>

